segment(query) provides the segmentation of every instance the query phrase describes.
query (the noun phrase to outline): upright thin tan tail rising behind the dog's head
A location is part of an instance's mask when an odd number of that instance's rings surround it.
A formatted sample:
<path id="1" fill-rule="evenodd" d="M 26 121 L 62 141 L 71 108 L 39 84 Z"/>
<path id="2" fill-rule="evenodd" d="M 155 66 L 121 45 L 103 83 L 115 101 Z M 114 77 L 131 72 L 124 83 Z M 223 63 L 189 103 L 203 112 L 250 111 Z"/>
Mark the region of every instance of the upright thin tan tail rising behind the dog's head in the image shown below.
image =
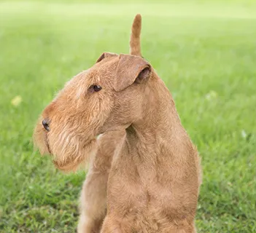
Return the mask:
<path id="1" fill-rule="evenodd" d="M 130 54 L 141 57 L 141 15 L 136 15 L 131 27 Z"/>

